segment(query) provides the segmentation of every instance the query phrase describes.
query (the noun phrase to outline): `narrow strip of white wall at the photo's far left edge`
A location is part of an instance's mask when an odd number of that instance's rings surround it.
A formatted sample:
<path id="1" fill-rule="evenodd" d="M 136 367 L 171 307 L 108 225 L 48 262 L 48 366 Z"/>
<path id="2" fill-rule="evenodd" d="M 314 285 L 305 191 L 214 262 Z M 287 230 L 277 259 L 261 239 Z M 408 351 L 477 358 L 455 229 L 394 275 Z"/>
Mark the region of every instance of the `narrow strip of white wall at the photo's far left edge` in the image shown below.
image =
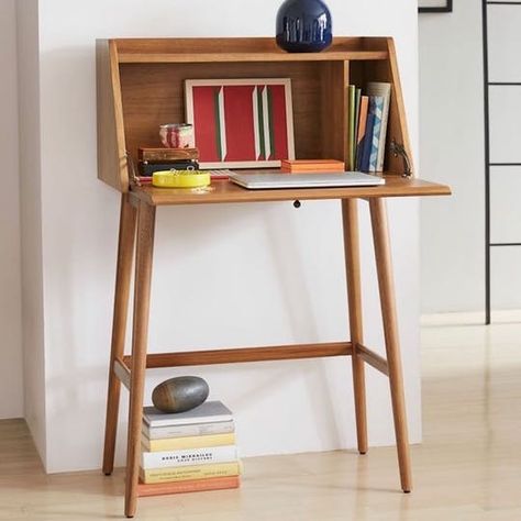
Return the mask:
<path id="1" fill-rule="evenodd" d="M 14 0 L 0 0 L 0 419 L 23 415 Z"/>

